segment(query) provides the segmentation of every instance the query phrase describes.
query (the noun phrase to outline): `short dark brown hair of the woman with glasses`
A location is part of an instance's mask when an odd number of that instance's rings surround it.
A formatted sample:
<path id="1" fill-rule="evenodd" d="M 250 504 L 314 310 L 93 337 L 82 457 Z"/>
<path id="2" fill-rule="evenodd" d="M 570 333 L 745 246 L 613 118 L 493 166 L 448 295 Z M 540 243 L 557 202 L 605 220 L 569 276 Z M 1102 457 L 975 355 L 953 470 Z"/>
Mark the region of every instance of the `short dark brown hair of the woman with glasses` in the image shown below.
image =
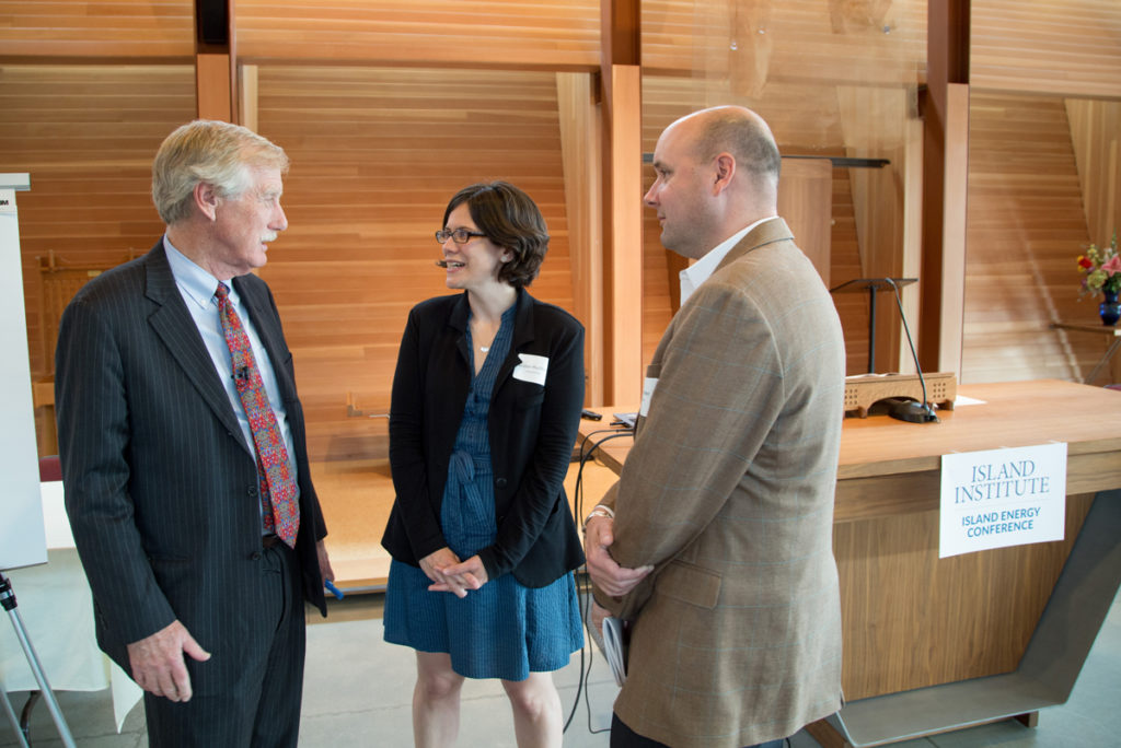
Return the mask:
<path id="1" fill-rule="evenodd" d="M 481 181 L 455 194 L 444 211 L 444 226 L 452 211 L 467 205 L 475 227 L 513 254 L 498 271 L 498 279 L 515 288 L 529 286 L 541 269 L 549 235 L 532 198 L 507 181 Z"/>

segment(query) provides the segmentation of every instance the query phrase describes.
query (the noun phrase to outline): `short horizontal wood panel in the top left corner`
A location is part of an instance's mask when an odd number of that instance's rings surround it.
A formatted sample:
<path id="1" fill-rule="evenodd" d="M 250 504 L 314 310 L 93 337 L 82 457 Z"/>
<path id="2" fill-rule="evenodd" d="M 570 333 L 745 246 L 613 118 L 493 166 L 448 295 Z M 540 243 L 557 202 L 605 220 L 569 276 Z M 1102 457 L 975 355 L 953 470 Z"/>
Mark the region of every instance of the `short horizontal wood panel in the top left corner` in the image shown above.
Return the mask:
<path id="1" fill-rule="evenodd" d="M 0 56 L 187 59 L 194 10 L 193 0 L 0 0 Z"/>

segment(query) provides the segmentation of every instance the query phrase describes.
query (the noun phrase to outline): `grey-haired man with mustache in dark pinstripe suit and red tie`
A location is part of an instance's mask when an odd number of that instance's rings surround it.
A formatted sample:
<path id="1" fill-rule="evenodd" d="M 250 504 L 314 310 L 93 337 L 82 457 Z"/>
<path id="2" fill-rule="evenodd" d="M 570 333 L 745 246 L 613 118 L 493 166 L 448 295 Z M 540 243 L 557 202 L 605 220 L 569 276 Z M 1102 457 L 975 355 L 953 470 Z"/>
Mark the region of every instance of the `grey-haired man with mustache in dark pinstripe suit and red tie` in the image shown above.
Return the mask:
<path id="1" fill-rule="evenodd" d="M 66 509 L 99 644 L 147 692 L 151 746 L 298 736 L 304 601 L 326 615 L 333 574 L 291 354 L 249 274 L 287 227 L 287 166 L 244 128 L 179 128 L 152 166 L 164 237 L 63 315 Z"/>

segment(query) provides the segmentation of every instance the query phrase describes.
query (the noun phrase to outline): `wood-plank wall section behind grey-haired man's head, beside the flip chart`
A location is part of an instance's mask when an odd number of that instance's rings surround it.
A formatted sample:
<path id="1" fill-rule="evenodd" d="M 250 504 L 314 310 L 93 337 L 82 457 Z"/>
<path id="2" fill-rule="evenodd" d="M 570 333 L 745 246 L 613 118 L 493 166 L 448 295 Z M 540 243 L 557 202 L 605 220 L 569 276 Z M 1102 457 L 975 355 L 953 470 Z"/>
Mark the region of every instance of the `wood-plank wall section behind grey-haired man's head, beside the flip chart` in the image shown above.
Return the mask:
<path id="1" fill-rule="evenodd" d="M 194 72 L 4 66 L 0 111 L 0 163 L 31 175 L 31 190 L 19 196 L 19 218 L 31 373 L 38 377 L 54 357 L 54 330 L 39 324 L 39 259 L 108 269 L 159 239 L 151 159 L 164 138 L 194 116 Z M 47 318 L 56 324 L 56 316 Z"/>

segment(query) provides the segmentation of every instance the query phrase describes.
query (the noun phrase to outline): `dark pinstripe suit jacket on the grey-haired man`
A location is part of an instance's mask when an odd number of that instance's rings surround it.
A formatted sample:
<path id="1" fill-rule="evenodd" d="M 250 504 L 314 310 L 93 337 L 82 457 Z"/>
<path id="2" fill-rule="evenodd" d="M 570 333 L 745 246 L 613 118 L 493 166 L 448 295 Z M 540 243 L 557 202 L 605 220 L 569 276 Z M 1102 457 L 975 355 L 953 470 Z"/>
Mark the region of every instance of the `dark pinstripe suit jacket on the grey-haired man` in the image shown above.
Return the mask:
<path id="1" fill-rule="evenodd" d="M 315 542 L 326 530 L 291 354 L 268 286 L 256 275 L 233 283 L 287 409 L 300 488 L 296 554 L 304 596 L 325 615 Z M 207 681 L 235 677 L 244 621 L 261 615 L 239 595 L 260 573 L 257 465 L 163 241 L 66 307 L 55 402 L 66 511 L 101 648 L 130 672 L 126 645 L 179 619 L 214 655 Z"/>

